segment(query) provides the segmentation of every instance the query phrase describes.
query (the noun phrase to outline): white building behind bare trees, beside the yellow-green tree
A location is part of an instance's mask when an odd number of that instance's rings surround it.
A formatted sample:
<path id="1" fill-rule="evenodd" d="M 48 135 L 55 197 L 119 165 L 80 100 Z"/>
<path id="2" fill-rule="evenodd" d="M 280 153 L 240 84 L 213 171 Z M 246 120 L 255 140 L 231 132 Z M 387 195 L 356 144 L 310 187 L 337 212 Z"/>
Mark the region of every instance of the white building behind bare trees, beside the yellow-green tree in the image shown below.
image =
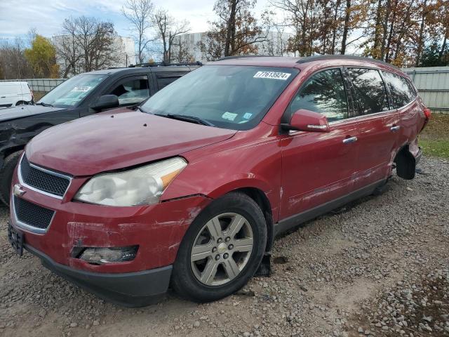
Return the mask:
<path id="1" fill-rule="evenodd" d="M 70 46 L 70 37 L 69 35 L 58 35 L 52 37 L 52 42 L 55 45 L 56 50 L 58 51 L 58 48 L 62 48 L 64 42 L 66 45 Z M 135 44 L 133 39 L 129 37 L 114 37 L 112 50 L 114 50 L 115 54 L 113 58 L 114 62 L 108 65 L 108 67 L 128 67 L 128 65 L 136 63 Z M 64 72 L 67 67 L 67 62 L 67 59 L 59 55 L 59 53 L 56 53 L 56 63 L 60 66 L 60 72 Z M 77 67 L 82 69 L 81 64 L 77 65 Z M 80 71 L 77 70 L 77 72 Z M 73 74 L 69 72 L 68 76 L 71 75 Z"/>

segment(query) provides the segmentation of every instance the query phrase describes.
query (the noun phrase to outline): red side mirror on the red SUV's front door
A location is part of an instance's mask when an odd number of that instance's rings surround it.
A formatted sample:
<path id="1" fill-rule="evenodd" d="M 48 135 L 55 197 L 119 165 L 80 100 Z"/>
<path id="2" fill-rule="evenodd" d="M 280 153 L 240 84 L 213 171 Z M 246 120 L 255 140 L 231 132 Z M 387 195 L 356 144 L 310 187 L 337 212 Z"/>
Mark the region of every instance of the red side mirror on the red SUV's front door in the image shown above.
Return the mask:
<path id="1" fill-rule="evenodd" d="M 284 130 L 290 131 L 310 131 L 310 132 L 329 132 L 328 119 L 323 114 L 310 110 L 297 110 L 289 124 L 281 124 Z"/>

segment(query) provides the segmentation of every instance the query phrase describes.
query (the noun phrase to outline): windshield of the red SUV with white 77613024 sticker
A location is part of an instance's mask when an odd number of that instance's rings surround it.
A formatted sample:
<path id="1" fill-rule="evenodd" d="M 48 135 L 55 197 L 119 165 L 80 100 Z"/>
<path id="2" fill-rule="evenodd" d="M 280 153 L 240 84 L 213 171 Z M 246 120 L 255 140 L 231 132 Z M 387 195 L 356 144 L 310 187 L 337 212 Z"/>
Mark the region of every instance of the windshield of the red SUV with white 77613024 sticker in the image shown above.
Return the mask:
<path id="1" fill-rule="evenodd" d="M 151 114 L 195 117 L 220 128 L 249 130 L 298 73 L 293 68 L 206 65 L 149 98 Z"/>

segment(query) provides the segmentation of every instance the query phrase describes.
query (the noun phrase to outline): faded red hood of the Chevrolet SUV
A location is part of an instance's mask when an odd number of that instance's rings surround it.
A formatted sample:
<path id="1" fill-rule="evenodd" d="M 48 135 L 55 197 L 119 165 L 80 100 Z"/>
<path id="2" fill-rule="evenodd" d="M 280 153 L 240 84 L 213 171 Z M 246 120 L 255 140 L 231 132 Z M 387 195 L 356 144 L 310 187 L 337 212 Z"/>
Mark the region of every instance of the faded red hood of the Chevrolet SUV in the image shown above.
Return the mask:
<path id="1" fill-rule="evenodd" d="M 91 176 L 173 157 L 226 140 L 236 131 L 145 112 L 112 110 L 43 131 L 27 145 L 34 164 Z"/>

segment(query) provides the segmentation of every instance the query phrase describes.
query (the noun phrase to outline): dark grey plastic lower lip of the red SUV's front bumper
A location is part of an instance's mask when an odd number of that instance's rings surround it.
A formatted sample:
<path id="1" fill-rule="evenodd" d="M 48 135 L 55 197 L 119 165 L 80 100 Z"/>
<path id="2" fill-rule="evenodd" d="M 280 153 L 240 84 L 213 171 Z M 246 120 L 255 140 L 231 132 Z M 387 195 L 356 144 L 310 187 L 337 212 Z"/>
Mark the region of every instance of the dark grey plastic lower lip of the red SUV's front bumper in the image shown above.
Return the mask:
<path id="1" fill-rule="evenodd" d="M 168 289 L 172 266 L 126 273 L 101 273 L 76 270 L 56 263 L 49 256 L 24 244 L 41 259 L 42 265 L 81 288 L 109 302 L 126 307 L 142 307 L 160 300 Z"/>

